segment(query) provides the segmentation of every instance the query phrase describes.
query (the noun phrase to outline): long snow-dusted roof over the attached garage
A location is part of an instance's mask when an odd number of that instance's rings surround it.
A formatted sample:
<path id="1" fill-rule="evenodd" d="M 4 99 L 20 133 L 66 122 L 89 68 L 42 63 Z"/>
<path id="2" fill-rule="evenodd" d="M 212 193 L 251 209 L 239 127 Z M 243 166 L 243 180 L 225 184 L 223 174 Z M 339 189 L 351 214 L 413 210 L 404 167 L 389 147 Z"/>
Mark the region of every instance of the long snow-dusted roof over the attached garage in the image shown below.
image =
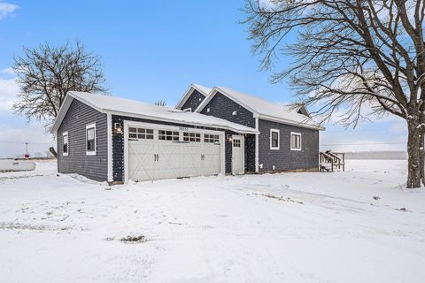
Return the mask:
<path id="1" fill-rule="evenodd" d="M 141 103 L 135 100 L 120 98 L 115 96 L 95 95 L 87 92 L 71 91 L 66 95 L 64 103 L 60 107 L 58 117 L 50 128 L 51 133 L 58 132 L 62 120 L 66 116 L 73 99 L 81 101 L 99 112 L 129 116 L 142 119 L 153 119 L 166 122 L 189 124 L 196 126 L 210 126 L 224 128 L 243 134 L 258 134 L 258 132 L 248 126 L 229 122 L 225 119 L 207 116 L 195 112 L 185 112 L 166 106 L 158 106 L 149 103 Z"/>

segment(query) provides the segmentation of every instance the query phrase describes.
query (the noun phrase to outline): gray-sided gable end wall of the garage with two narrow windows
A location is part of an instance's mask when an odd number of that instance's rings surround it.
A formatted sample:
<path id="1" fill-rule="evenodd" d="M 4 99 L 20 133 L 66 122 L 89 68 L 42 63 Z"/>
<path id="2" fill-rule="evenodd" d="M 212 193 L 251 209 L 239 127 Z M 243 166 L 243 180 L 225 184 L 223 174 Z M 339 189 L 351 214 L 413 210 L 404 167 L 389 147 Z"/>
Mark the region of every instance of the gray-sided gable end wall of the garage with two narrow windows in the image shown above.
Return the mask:
<path id="1" fill-rule="evenodd" d="M 86 155 L 86 126 L 96 123 L 96 156 Z M 108 179 L 107 117 L 74 99 L 58 129 L 58 172 L 78 173 L 92 180 Z M 63 156 L 63 133 L 68 132 L 69 154 Z"/>

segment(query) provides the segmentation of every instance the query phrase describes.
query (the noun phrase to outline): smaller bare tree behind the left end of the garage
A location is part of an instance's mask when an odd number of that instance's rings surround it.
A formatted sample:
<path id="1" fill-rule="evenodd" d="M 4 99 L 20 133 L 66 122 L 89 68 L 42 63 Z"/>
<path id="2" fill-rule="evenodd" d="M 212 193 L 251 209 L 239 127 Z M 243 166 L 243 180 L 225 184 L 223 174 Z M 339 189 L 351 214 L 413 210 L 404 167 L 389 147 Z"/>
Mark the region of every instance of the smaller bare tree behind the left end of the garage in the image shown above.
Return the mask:
<path id="1" fill-rule="evenodd" d="M 87 52 L 81 42 L 24 48 L 24 55 L 14 61 L 20 92 L 12 110 L 46 126 L 57 117 L 68 91 L 106 91 L 100 58 Z"/>

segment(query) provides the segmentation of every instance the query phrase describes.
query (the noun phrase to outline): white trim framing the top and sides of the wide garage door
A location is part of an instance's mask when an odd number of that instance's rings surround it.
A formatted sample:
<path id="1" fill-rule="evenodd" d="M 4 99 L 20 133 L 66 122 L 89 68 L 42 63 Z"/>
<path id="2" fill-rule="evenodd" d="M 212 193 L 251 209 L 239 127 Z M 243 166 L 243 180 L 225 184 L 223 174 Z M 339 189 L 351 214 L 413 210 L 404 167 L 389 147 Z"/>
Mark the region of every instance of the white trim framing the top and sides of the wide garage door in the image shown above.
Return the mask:
<path id="1" fill-rule="evenodd" d="M 128 127 L 149 127 L 153 129 L 164 129 L 164 130 L 174 130 L 179 132 L 197 132 L 202 134 L 218 134 L 220 141 L 220 174 L 224 175 L 226 170 L 226 157 L 225 157 L 225 133 L 224 131 L 215 131 L 215 130 L 205 130 L 198 129 L 187 126 L 169 126 L 169 125 L 161 125 L 154 123 L 145 123 L 145 122 L 136 122 L 130 120 L 124 120 L 124 183 L 128 183 Z M 156 137 L 155 137 L 156 138 Z M 202 139 L 203 137 L 201 137 Z M 232 144 L 233 147 L 233 144 Z"/>

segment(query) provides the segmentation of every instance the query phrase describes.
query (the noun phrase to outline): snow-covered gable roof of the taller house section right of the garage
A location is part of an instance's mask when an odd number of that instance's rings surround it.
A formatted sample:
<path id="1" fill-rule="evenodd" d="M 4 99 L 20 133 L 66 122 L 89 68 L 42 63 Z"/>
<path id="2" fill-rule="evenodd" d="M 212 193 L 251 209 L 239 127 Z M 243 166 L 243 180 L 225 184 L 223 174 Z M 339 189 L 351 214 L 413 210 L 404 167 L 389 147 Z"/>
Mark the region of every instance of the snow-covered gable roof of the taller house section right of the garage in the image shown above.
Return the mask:
<path id="1" fill-rule="evenodd" d="M 309 116 L 299 113 L 298 111 L 304 111 L 300 108 L 289 109 L 288 106 L 272 103 L 263 98 L 250 96 L 242 92 L 224 87 L 214 87 L 211 90 L 209 96 L 207 96 L 205 100 L 199 104 L 196 111 L 202 111 L 217 93 L 227 96 L 231 100 L 251 111 L 255 118 L 318 130 L 325 129 L 318 123 L 314 122 L 313 119 L 311 119 Z"/>

